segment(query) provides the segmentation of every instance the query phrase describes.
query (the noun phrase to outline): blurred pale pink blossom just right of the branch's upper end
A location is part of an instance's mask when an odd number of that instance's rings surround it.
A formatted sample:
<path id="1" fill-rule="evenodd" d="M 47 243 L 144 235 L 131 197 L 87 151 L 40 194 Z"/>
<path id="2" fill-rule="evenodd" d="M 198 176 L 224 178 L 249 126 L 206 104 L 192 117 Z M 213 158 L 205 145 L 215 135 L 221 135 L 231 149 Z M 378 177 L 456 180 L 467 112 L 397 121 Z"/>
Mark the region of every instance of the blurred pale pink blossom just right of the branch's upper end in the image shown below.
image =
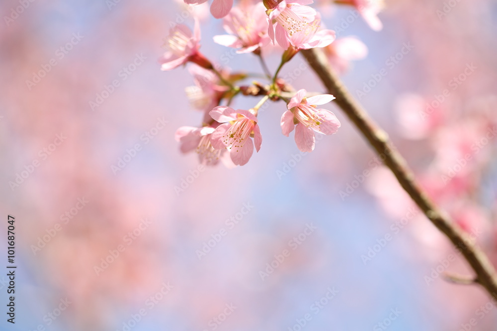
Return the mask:
<path id="1" fill-rule="evenodd" d="M 349 62 L 362 60 L 368 54 L 368 48 L 362 41 L 355 37 L 344 37 L 336 39 L 324 49 L 331 66 L 339 73 L 348 69 Z"/>

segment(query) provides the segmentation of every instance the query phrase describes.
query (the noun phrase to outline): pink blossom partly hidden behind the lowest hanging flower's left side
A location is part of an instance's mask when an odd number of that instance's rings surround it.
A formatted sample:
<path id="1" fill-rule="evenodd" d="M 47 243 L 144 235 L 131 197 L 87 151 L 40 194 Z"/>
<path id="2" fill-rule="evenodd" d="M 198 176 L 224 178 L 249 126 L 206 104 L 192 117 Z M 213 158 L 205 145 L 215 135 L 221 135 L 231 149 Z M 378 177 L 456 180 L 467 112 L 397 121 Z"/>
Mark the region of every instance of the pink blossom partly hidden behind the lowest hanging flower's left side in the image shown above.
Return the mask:
<path id="1" fill-rule="evenodd" d="M 201 164 L 216 165 L 225 151 L 212 147 L 211 134 L 215 130 L 214 127 L 181 127 L 174 133 L 174 138 L 179 141 L 182 153 L 195 150 Z"/>

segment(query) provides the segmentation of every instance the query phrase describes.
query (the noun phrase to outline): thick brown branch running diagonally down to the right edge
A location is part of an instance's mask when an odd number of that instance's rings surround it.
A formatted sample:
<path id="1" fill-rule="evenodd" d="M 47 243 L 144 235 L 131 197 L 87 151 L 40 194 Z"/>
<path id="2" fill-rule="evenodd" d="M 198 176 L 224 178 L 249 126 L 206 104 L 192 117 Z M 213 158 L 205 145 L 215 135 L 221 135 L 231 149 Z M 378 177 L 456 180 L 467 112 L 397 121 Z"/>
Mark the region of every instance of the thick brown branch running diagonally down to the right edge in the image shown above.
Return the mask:
<path id="1" fill-rule="evenodd" d="M 301 53 L 321 78 L 328 93 L 336 98 L 334 102 L 345 112 L 376 151 L 385 155 L 385 165 L 394 173 L 404 190 L 411 196 L 426 217 L 461 251 L 466 261 L 475 271 L 475 279 L 478 279 L 478 283 L 497 299 L 496 271 L 485 253 L 475 246 L 470 237 L 450 219 L 449 215 L 428 198 L 416 182 L 413 172 L 404 157 L 393 146 L 388 134 L 378 127 L 359 103 L 354 100 L 337 74 L 331 69 L 324 53 L 318 49 L 303 50 Z"/>

